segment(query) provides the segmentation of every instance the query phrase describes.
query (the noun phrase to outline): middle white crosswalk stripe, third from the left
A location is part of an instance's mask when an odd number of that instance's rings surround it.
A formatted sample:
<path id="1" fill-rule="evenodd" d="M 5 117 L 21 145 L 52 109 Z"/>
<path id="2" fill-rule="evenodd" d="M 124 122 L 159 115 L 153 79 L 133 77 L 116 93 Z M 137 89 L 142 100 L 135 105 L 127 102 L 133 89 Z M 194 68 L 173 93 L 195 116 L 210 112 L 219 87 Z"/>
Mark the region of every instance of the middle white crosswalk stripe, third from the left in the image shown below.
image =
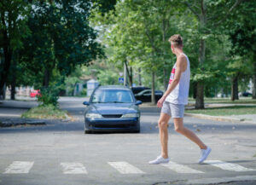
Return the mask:
<path id="1" fill-rule="evenodd" d="M 109 165 L 113 166 L 121 174 L 142 174 L 143 171 L 139 170 L 137 167 L 130 165 L 127 162 L 108 162 Z"/>

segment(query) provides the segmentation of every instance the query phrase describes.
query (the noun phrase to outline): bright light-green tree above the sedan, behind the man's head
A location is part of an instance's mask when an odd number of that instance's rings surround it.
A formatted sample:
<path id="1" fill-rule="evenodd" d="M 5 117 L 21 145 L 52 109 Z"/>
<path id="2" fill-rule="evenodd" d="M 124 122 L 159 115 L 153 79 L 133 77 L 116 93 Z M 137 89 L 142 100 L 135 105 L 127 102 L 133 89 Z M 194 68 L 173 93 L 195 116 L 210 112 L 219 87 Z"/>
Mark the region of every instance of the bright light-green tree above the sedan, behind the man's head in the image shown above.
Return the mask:
<path id="1" fill-rule="evenodd" d="M 166 75 L 163 64 L 170 63 L 170 46 L 166 42 L 171 34 L 170 17 L 173 1 L 124 1 L 115 7 L 115 14 L 102 20 L 108 24 L 106 40 L 113 47 L 111 61 L 125 64 L 132 84 L 132 69 L 143 69 L 152 77 L 151 88 L 155 89 L 155 73 Z M 120 65 L 122 66 L 122 65 Z M 160 70 L 161 69 L 161 70 Z M 166 86 L 166 80 L 164 80 Z M 154 93 L 152 94 L 152 102 Z"/>

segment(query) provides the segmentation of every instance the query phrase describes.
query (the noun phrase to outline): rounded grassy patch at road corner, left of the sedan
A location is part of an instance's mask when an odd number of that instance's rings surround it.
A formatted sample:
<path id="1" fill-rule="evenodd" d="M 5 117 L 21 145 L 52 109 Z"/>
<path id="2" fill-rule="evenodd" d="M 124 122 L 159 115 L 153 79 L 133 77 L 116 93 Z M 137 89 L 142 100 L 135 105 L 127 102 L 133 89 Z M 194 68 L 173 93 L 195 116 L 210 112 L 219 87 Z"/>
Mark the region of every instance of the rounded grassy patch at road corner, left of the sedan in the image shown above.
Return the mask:
<path id="1" fill-rule="evenodd" d="M 21 118 L 25 119 L 67 119 L 67 111 L 52 105 L 32 107 Z"/>

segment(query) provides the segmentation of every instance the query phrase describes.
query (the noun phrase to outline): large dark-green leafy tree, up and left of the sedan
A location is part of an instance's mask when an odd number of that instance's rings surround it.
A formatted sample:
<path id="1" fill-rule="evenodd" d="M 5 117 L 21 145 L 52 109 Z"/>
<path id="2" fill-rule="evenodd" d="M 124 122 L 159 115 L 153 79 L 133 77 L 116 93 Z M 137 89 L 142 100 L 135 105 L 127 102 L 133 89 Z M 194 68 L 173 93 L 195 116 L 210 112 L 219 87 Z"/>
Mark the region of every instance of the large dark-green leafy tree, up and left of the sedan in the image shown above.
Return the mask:
<path id="1" fill-rule="evenodd" d="M 89 66 L 103 52 L 89 22 L 91 1 L 39 1 L 32 6 L 28 19 L 32 34 L 24 40 L 27 47 L 20 50 L 20 61 L 23 66 L 29 63 L 26 70 L 35 74 L 39 88 L 47 93 L 55 89 L 55 71 L 64 84 L 76 66 Z"/>

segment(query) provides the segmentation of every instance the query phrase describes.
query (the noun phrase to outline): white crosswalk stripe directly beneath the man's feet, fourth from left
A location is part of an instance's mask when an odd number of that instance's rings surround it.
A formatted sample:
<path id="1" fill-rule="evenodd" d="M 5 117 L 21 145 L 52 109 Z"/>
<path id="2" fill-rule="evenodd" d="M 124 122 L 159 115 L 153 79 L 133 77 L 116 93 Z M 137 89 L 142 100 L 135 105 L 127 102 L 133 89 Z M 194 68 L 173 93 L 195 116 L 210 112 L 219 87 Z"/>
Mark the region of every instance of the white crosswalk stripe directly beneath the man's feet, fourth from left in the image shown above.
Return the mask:
<path id="1" fill-rule="evenodd" d="M 204 173 L 203 171 L 197 171 L 195 169 L 189 168 L 186 165 L 179 165 L 177 163 L 174 163 L 172 161 L 169 161 L 167 164 L 162 164 L 163 166 L 166 166 L 166 168 L 176 171 L 177 173 Z"/>

